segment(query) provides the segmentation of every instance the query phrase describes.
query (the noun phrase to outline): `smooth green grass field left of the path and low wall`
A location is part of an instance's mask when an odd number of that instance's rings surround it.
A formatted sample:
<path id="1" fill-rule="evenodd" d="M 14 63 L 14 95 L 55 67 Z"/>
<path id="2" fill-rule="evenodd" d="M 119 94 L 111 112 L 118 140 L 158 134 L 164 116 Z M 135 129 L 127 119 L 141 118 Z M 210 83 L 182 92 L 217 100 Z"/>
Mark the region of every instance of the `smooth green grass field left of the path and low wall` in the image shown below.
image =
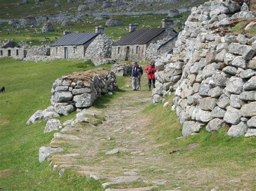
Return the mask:
<path id="1" fill-rule="evenodd" d="M 0 86 L 6 88 L 6 92 L 0 94 L 0 188 L 99 188 L 95 181 L 76 175 L 59 178 L 48 162 L 39 164 L 38 148 L 48 144 L 53 133 L 43 134 L 44 122 L 25 125 L 33 112 L 50 105 L 50 89 L 57 77 L 90 68 L 92 66 L 85 66 L 83 60 L 35 63 L 0 59 Z"/>

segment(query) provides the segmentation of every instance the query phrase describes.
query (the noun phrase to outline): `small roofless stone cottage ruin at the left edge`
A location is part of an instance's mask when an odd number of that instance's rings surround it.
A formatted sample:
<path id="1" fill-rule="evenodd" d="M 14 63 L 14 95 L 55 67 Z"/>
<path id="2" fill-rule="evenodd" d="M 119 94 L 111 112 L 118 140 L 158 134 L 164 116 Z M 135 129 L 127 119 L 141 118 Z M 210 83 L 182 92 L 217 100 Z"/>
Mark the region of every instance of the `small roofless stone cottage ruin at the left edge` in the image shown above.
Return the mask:
<path id="1" fill-rule="evenodd" d="M 26 50 L 15 41 L 10 40 L 0 47 L 0 58 L 10 57 L 22 60 L 26 56 Z"/>

